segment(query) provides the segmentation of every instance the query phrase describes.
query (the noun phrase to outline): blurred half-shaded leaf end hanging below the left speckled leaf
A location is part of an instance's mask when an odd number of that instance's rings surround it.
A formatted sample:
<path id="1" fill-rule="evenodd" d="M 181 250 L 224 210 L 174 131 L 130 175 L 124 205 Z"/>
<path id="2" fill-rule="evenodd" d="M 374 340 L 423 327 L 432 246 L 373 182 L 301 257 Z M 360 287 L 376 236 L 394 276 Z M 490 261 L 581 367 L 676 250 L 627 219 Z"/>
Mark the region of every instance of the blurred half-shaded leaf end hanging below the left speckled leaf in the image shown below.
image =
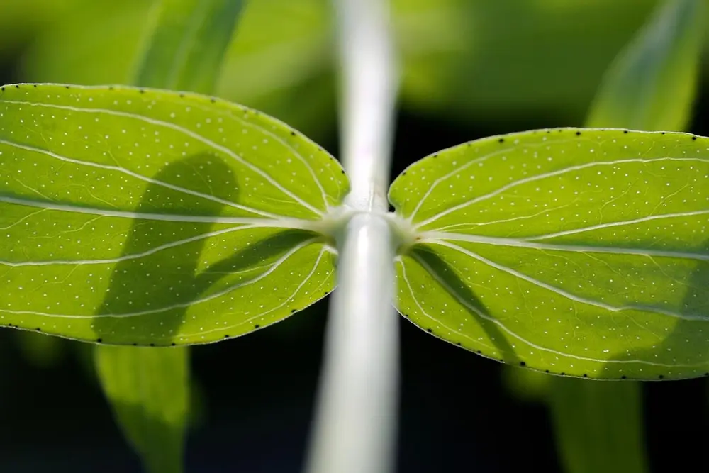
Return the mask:
<path id="1" fill-rule="evenodd" d="M 143 457 L 146 471 L 182 472 L 189 408 L 188 351 L 100 348 L 96 350 L 96 370 L 101 385 L 111 399 L 118 424 Z M 162 382 L 154 382 L 155 375 Z"/>

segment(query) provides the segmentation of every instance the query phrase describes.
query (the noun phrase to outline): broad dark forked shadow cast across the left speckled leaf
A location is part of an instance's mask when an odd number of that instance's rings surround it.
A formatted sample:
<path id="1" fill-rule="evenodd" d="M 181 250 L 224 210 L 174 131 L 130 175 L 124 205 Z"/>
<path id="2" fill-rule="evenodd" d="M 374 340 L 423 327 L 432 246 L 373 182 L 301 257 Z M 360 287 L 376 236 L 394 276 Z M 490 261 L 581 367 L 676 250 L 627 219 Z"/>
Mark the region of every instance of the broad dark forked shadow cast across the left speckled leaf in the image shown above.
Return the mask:
<path id="1" fill-rule="evenodd" d="M 238 189 L 235 179 L 230 177 L 230 168 L 213 155 L 196 155 L 174 162 L 161 169 L 154 179 L 170 182 L 185 169 L 206 166 L 211 174 L 220 177 L 209 183 L 209 193 L 235 200 Z M 174 198 L 171 189 L 150 184 L 136 212 L 164 213 L 160 203 L 174 204 Z M 223 206 L 218 201 L 200 199 L 199 214 L 218 216 Z M 194 212 L 189 203 L 184 207 L 183 213 Z M 208 238 L 202 237 L 213 231 L 213 226 L 213 223 L 135 220 L 123 247 L 125 259 L 114 267 L 103 304 L 94 316 L 96 340 L 118 345 L 170 345 L 178 336 L 190 304 L 212 286 L 230 274 L 256 270 L 269 257 L 281 255 L 313 236 L 302 230 L 274 230 L 278 233 L 235 248 L 223 260 L 201 269 L 200 257 L 208 242 Z M 164 246 L 175 241 L 184 243 Z M 161 250 L 149 255 L 129 257 L 160 245 Z M 220 289 L 228 290 L 228 285 Z"/>

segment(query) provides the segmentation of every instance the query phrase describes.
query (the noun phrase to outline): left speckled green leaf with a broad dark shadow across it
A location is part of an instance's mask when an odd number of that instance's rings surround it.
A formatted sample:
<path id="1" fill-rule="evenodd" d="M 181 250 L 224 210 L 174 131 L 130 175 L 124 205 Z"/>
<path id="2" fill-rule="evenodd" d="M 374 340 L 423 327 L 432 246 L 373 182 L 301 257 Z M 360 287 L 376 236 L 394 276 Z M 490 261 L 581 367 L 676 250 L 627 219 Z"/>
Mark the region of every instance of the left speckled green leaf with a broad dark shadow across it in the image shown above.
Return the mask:
<path id="1" fill-rule="evenodd" d="M 249 333 L 333 289 L 337 161 L 195 94 L 0 89 L 0 323 L 116 345 Z"/>

